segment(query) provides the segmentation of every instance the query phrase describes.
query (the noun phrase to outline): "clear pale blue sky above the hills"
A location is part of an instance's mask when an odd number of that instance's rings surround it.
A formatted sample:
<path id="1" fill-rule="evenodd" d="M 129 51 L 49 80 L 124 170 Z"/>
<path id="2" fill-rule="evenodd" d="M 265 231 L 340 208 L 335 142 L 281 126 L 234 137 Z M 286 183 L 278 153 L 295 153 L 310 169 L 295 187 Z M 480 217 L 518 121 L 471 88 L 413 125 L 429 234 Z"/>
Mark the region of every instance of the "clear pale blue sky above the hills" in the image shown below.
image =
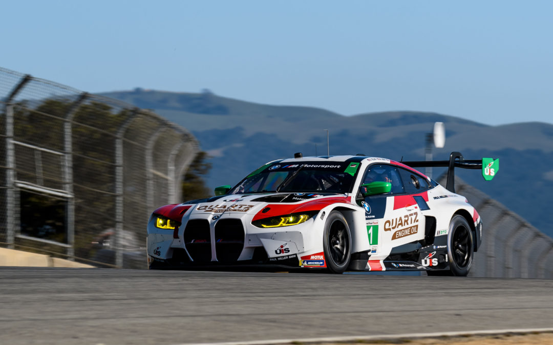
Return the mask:
<path id="1" fill-rule="evenodd" d="M 551 1 L 2 1 L 0 67 L 343 115 L 553 123 Z"/>

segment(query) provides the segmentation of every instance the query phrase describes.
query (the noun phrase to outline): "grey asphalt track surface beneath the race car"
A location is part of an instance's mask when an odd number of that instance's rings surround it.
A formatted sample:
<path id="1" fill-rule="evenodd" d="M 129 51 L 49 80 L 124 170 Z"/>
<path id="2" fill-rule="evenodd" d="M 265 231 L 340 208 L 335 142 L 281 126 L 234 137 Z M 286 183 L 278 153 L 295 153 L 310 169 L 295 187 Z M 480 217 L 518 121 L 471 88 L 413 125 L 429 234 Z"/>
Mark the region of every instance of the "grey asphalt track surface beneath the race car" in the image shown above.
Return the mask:
<path id="1" fill-rule="evenodd" d="M 553 327 L 553 280 L 0 268 L 2 344 L 182 344 Z"/>

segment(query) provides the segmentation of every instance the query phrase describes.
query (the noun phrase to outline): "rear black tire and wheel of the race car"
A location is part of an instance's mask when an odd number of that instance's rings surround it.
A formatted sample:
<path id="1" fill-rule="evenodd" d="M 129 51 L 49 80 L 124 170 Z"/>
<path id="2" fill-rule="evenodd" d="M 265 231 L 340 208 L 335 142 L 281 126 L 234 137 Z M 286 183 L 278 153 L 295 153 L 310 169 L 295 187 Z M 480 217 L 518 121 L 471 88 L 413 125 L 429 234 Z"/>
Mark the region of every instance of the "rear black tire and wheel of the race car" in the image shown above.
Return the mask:
<path id="1" fill-rule="evenodd" d="M 466 277 L 471 269 L 473 256 L 474 242 L 471 226 L 465 217 L 455 215 L 451 219 L 447 233 L 447 259 L 450 275 Z"/>

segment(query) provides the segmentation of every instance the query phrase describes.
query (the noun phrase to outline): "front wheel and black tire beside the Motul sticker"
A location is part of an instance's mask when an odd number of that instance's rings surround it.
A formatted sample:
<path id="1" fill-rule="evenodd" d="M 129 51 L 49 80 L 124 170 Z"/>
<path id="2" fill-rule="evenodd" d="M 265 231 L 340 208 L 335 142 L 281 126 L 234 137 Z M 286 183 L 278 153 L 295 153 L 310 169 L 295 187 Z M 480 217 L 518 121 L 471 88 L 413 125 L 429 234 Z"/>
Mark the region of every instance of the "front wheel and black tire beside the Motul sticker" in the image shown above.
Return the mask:
<path id="1" fill-rule="evenodd" d="M 351 232 L 346 218 L 338 211 L 328 214 L 322 247 L 329 273 L 343 273 L 351 261 Z"/>

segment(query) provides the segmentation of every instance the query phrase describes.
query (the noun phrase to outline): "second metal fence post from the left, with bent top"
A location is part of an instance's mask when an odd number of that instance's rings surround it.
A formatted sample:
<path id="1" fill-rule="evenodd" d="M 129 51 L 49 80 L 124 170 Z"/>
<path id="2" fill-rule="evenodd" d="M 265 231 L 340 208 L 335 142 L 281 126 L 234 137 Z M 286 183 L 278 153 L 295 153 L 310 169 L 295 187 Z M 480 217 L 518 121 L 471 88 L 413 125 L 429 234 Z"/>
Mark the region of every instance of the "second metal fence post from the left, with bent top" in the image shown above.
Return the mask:
<path id="1" fill-rule="evenodd" d="M 88 93 L 83 92 L 67 109 L 64 120 L 64 189 L 70 195 L 67 199 L 65 221 L 67 223 L 67 256 L 70 260 L 75 260 L 75 195 L 73 194 L 73 138 L 72 138 L 72 120 L 73 116 L 79 110 L 82 102 L 88 97 Z"/>

